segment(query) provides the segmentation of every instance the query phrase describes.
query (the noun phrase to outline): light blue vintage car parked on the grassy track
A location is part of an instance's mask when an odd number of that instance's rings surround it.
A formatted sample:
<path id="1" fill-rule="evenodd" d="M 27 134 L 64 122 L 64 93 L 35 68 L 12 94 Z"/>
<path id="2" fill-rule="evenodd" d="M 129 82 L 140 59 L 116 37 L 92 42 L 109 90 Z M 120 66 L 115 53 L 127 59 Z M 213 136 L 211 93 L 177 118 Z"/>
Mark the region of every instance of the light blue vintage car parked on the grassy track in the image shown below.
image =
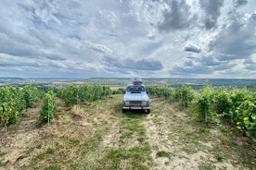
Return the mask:
<path id="1" fill-rule="evenodd" d="M 150 101 L 141 79 L 132 79 L 122 98 L 122 113 L 129 110 L 143 110 L 150 113 Z"/>

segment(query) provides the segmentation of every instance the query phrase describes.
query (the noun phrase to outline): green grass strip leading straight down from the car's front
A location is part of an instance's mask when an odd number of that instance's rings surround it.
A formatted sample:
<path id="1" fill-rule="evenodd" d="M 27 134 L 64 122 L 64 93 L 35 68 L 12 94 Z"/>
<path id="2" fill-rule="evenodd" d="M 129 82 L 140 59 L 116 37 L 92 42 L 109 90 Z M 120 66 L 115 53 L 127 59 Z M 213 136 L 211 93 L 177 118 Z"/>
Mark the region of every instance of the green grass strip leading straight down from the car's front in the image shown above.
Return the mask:
<path id="1" fill-rule="evenodd" d="M 146 140 L 146 129 L 141 125 L 145 115 L 127 113 L 120 116 L 120 123 L 118 124 L 120 128 L 119 148 L 101 148 L 102 155 L 99 159 L 94 160 L 97 164 L 92 166 L 87 162 L 83 165 L 83 168 L 119 169 L 125 167 L 129 169 L 149 169 L 149 165 L 152 164 L 151 149 Z"/>

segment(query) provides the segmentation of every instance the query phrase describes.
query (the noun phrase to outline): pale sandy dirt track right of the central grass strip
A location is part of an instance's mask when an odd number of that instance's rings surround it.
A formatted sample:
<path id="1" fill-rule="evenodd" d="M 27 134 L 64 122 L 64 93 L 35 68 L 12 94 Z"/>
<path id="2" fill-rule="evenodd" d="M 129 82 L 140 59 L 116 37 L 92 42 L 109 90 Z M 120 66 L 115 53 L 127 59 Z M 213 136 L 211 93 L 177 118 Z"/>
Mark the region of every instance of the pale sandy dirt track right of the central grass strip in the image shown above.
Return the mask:
<path id="1" fill-rule="evenodd" d="M 214 129 L 194 124 L 195 120 L 165 101 L 152 103 L 152 113 L 144 121 L 155 163 L 150 169 L 250 169 L 224 156 Z"/>

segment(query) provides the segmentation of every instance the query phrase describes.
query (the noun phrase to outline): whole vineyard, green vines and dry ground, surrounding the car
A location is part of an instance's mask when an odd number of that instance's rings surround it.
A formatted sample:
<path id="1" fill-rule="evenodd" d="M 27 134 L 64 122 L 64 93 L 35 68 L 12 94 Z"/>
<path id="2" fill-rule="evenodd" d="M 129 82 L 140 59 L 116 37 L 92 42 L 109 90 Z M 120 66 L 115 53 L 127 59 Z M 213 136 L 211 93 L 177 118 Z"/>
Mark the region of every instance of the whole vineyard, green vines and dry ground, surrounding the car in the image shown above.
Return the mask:
<path id="1" fill-rule="evenodd" d="M 123 115 L 122 90 L 112 91 L 107 86 L 84 83 L 57 92 L 28 85 L 1 87 L 0 124 L 4 130 L 0 131 L 0 169 L 255 167 L 255 92 L 211 86 L 199 90 L 148 86 L 147 93 L 153 105 L 150 115 Z M 31 117 L 32 109 L 36 110 L 32 118 L 37 117 L 30 120 L 36 138 L 21 147 L 18 157 L 6 159 L 13 151 L 8 142 L 15 143 L 12 136 L 19 132 L 16 128 L 23 125 L 23 119 Z M 190 159 L 191 155 L 199 158 Z M 22 162 L 26 158 L 27 162 Z M 175 162 L 178 158 L 184 162 Z"/>

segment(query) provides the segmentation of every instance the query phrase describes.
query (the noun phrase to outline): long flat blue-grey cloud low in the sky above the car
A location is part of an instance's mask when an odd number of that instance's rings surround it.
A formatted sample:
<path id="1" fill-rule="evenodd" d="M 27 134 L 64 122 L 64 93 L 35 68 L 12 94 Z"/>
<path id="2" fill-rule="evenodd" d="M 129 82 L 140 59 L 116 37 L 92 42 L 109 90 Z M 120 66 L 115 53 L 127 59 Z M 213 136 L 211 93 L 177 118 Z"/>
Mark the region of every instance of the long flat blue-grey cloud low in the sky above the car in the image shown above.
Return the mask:
<path id="1" fill-rule="evenodd" d="M 141 59 L 136 61 L 133 58 L 126 58 L 125 60 L 119 60 L 110 56 L 104 57 L 104 64 L 109 67 L 120 67 L 138 70 L 160 70 L 163 68 L 160 61 L 154 59 Z"/>

